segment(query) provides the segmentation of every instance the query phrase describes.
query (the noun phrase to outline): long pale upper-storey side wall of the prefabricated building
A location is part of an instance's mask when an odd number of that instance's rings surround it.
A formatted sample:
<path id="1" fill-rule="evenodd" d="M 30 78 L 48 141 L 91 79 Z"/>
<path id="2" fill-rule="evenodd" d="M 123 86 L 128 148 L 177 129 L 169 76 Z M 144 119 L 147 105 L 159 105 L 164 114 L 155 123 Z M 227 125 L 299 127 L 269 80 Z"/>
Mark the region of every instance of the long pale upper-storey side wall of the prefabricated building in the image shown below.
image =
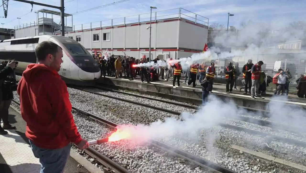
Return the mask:
<path id="1" fill-rule="evenodd" d="M 81 44 L 86 49 L 148 49 L 150 29 L 149 23 L 140 25 L 117 26 L 113 28 L 96 28 L 70 32 L 65 36 L 81 36 Z M 177 48 L 179 21 L 165 20 L 151 24 L 151 49 Z M 110 40 L 103 40 L 103 33 L 110 34 Z M 98 34 L 99 40 L 94 41 L 93 35 Z"/>

